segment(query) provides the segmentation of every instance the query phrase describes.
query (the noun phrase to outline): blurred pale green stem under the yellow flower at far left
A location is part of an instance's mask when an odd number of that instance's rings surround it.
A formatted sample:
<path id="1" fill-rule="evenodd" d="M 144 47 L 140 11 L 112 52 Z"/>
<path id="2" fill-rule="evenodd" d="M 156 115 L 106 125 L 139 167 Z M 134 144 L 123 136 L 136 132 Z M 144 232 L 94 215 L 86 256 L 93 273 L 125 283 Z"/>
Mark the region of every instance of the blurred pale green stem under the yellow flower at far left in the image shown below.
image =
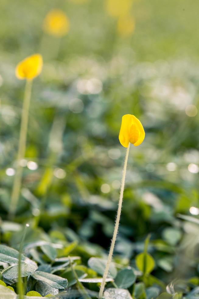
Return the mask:
<path id="1" fill-rule="evenodd" d="M 16 174 L 14 177 L 11 202 L 10 202 L 10 211 L 9 216 L 14 216 L 17 203 L 19 200 L 20 190 L 21 190 L 21 181 L 22 181 L 22 172 L 23 168 L 20 166 L 20 160 L 25 156 L 26 152 L 26 137 L 28 129 L 28 115 L 30 107 L 30 97 L 32 89 L 32 80 L 26 80 L 26 87 L 24 92 L 23 107 L 22 107 L 22 116 L 21 116 L 21 128 L 19 135 L 19 148 L 17 153 L 17 165 L 16 165 Z"/>

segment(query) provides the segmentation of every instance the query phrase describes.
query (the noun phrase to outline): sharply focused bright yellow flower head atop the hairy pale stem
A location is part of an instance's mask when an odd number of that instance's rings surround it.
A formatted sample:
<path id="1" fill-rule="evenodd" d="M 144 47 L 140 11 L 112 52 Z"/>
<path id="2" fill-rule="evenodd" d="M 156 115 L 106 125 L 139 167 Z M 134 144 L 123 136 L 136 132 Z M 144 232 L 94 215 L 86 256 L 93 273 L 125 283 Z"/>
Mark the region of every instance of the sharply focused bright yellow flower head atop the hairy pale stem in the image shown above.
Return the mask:
<path id="1" fill-rule="evenodd" d="M 119 140 L 121 145 L 128 147 L 129 142 L 138 146 L 145 138 L 145 131 L 137 117 L 131 114 L 125 114 L 122 117 Z"/>

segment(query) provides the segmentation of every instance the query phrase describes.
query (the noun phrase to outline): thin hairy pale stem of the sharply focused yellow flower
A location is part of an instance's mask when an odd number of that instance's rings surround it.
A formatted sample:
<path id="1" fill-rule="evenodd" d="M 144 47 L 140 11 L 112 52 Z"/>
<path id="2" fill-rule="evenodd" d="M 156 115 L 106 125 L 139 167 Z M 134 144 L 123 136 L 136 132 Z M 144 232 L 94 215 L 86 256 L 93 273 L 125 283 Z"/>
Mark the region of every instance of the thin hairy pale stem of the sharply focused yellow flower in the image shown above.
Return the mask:
<path id="1" fill-rule="evenodd" d="M 113 239 L 112 239 L 111 245 L 110 245 L 108 260 L 107 260 L 106 268 L 105 268 L 105 271 L 104 271 L 102 283 L 101 283 L 101 286 L 100 286 L 100 292 L 99 292 L 99 297 L 98 297 L 99 299 L 101 299 L 102 296 L 103 296 L 104 286 L 105 286 L 105 283 L 106 283 L 106 278 L 107 278 L 107 275 L 108 275 L 110 263 L 111 263 L 111 260 L 112 260 L 113 250 L 114 250 L 115 241 L 116 241 L 117 232 L 118 232 L 118 227 L 119 227 L 119 223 L 120 223 L 120 214 L 121 214 L 121 209 L 122 209 L 122 200 L 123 200 L 123 193 L 124 193 L 124 183 L 125 183 L 125 176 L 126 176 L 126 170 L 127 170 L 127 161 L 128 161 L 129 148 L 130 148 L 130 142 L 128 144 L 126 157 L 125 157 L 125 160 L 124 160 L 124 169 L 123 169 L 123 175 L 122 175 L 122 181 L 121 181 L 121 190 L 120 190 L 120 199 L 119 199 L 119 204 L 118 204 L 118 209 L 117 209 L 117 217 L 116 217 L 116 221 L 115 221 L 115 228 L 114 228 L 114 232 L 113 232 Z"/>

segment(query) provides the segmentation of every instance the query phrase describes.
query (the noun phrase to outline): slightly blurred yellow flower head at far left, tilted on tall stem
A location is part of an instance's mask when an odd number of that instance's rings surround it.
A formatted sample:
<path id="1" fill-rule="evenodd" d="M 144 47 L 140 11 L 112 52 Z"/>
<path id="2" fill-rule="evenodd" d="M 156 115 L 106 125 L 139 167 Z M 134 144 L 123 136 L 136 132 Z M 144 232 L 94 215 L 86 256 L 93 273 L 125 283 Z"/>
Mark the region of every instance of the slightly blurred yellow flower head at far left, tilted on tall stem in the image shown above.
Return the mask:
<path id="1" fill-rule="evenodd" d="M 15 74 L 18 79 L 32 80 L 41 73 L 42 67 L 42 56 L 33 54 L 17 64 Z"/>

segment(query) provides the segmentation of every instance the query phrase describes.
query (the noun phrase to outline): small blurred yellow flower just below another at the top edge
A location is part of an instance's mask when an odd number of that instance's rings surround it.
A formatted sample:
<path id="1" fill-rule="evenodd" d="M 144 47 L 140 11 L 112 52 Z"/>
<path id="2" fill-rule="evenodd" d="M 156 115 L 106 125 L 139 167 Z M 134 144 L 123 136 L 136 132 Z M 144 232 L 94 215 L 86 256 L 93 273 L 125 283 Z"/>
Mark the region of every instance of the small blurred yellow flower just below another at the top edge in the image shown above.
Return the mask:
<path id="1" fill-rule="evenodd" d="M 129 36 L 134 32 L 135 22 L 130 15 L 120 16 L 117 21 L 117 32 L 121 36 Z"/>

